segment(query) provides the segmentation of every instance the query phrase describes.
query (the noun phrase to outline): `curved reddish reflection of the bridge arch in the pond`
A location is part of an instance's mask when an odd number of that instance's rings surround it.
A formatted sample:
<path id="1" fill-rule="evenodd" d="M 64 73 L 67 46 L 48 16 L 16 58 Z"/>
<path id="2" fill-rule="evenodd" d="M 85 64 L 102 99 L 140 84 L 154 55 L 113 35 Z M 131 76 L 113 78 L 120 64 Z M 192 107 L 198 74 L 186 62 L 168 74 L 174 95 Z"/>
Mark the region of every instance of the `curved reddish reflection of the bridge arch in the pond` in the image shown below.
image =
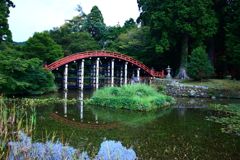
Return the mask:
<path id="1" fill-rule="evenodd" d="M 79 122 L 71 121 L 66 118 L 60 117 L 59 115 L 52 112 L 50 113 L 50 116 L 52 119 L 60 123 L 63 123 L 65 125 L 72 126 L 72 127 L 82 128 L 82 129 L 104 130 L 104 129 L 112 129 L 112 128 L 121 126 L 120 123 L 104 124 L 104 125 L 79 123 Z"/>

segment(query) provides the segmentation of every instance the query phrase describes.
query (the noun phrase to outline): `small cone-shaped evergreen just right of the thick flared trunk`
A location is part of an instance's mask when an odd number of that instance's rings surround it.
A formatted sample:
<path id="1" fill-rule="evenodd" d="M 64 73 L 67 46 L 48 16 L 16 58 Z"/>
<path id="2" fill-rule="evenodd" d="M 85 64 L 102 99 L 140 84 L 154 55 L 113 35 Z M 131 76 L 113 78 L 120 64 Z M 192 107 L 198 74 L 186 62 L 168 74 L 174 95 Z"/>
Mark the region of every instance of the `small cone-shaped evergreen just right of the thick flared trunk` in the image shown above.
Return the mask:
<path id="1" fill-rule="evenodd" d="M 193 79 L 202 79 L 211 77 L 214 74 L 208 55 L 202 47 L 198 47 L 192 51 L 190 63 L 187 65 L 187 72 Z"/>

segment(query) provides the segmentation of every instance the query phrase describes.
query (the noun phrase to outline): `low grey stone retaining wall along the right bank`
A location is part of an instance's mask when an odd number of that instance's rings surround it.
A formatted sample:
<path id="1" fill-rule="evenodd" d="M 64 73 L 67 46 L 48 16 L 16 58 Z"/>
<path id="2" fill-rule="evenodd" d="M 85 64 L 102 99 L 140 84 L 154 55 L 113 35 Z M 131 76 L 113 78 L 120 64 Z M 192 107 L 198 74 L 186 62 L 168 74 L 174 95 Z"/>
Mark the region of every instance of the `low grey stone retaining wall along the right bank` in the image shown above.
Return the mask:
<path id="1" fill-rule="evenodd" d="M 190 86 L 171 79 L 154 79 L 153 84 L 166 86 L 166 94 L 177 97 L 240 98 L 240 91 L 214 89 L 206 86 Z"/>

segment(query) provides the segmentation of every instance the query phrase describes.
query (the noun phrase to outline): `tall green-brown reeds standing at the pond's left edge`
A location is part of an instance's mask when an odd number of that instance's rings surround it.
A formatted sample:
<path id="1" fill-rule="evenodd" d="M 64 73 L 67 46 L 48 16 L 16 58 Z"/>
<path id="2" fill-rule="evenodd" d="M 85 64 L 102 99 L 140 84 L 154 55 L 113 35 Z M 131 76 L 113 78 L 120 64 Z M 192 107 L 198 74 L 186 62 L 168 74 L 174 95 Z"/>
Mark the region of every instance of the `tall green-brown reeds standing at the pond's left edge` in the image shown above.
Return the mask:
<path id="1" fill-rule="evenodd" d="M 7 106 L 4 98 L 0 97 L 0 159 L 8 154 L 5 146 L 9 140 L 15 140 L 17 131 L 30 134 L 35 126 L 35 107 L 27 109 L 23 106 Z"/>

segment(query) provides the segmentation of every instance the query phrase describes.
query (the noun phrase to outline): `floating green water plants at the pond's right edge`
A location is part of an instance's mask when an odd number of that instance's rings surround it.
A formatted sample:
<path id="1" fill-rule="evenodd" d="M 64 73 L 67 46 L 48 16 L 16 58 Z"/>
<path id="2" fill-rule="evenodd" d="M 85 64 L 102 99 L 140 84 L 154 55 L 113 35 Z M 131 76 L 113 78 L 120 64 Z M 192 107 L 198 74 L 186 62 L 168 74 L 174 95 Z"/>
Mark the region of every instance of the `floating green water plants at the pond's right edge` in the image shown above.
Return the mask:
<path id="1" fill-rule="evenodd" d="M 210 116 L 206 120 L 223 124 L 221 131 L 224 133 L 236 133 L 240 136 L 240 104 L 211 105 L 209 109 L 226 113 L 221 117 Z M 220 112 L 220 113 L 221 113 Z"/>

